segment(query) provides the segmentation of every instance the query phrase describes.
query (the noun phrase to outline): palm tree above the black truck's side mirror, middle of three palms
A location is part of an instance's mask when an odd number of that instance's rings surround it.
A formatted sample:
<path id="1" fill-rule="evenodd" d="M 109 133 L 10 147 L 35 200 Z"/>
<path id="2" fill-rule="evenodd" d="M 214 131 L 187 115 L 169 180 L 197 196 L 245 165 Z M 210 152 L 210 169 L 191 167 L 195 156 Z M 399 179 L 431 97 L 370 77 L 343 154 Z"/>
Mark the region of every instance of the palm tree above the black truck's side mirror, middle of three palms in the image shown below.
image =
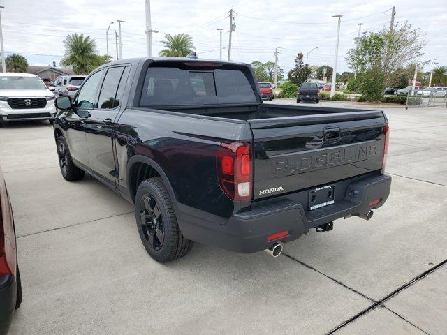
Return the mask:
<path id="1" fill-rule="evenodd" d="M 84 34 L 67 35 L 64 40 L 65 56 L 61 65 L 71 66 L 78 75 L 91 73 L 105 63 L 104 57 L 96 54 L 96 41 Z"/>

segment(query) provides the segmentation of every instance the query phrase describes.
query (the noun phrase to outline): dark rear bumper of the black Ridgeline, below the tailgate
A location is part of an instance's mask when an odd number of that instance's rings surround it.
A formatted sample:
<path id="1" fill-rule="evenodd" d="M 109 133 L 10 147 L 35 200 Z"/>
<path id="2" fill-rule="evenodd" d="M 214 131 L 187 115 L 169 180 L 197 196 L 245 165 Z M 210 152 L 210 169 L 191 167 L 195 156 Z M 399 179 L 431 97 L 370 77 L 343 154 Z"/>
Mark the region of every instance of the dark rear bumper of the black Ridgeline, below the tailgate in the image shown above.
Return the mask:
<path id="1" fill-rule="evenodd" d="M 210 214 L 179 207 L 179 226 L 187 239 L 219 246 L 239 253 L 254 253 L 277 241 L 288 242 L 337 218 L 366 214 L 388 199 L 391 177 L 369 175 L 335 183 L 335 204 L 309 211 L 309 190 L 270 198 L 251 205 L 251 210 L 235 214 L 226 221 L 213 220 Z M 373 207 L 369 203 L 380 199 Z M 268 241 L 276 232 L 288 231 L 284 238 Z"/>

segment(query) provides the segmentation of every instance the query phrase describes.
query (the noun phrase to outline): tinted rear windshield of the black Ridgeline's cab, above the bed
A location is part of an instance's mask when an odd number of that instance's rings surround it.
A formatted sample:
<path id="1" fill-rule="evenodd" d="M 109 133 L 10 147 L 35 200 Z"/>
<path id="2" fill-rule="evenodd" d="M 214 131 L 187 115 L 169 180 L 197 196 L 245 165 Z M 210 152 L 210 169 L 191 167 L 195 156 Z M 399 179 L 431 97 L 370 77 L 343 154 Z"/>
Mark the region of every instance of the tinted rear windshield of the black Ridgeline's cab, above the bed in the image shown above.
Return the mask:
<path id="1" fill-rule="evenodd" d="M 256 96 L 240 70 L 148 68 L 142 88 L 142 106 L 206 103 L 256 103 Z"/>

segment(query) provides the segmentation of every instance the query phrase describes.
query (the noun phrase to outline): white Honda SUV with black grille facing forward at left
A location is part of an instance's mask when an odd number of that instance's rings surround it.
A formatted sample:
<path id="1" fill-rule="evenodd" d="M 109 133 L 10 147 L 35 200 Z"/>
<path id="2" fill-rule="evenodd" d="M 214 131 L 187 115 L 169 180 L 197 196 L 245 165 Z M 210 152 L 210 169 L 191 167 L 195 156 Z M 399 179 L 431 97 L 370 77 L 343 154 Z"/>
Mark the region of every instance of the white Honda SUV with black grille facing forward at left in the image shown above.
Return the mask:
<path id="1" fill-rule="evenodd" d="M 41 78 L 28 73 L 0 73 L 0 127 L 8 121 L 54 120 L 54 94 Z"/>

